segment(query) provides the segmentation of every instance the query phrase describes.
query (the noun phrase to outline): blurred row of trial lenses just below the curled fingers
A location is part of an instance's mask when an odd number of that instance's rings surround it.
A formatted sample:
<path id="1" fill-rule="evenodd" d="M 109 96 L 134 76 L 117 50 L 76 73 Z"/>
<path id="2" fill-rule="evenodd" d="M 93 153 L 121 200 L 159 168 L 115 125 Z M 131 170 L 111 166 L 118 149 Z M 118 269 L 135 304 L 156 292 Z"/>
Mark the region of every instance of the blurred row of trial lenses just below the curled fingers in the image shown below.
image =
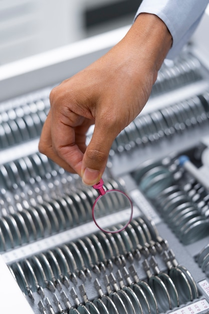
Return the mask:
<path id="1" fill-rule="evenodd" d="M 81 180 L 39 152 L 0 166 L 0 214 L 75 192 Z M 29 204 L 29 205 L 28 205 Z"/>

